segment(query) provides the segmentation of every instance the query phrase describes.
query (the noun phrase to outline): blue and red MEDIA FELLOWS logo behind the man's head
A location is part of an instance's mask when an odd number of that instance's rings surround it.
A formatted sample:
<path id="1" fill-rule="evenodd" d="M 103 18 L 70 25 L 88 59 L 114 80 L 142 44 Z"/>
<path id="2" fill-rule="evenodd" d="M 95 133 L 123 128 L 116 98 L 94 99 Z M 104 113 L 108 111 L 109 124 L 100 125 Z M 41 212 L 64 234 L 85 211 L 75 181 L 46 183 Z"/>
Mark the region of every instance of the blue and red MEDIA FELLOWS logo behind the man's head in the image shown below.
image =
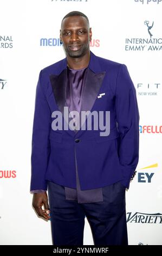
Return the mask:
<path id="1" fill-rule="evenodd" d="M 62 46 L 62 42 L 60 41 L 60 38 L 41 38 L 40 46 Z M 92 39 L 90 41 L 90 47 L 99 47 L 99 46 L 100 46 L 99 39 Z"/>

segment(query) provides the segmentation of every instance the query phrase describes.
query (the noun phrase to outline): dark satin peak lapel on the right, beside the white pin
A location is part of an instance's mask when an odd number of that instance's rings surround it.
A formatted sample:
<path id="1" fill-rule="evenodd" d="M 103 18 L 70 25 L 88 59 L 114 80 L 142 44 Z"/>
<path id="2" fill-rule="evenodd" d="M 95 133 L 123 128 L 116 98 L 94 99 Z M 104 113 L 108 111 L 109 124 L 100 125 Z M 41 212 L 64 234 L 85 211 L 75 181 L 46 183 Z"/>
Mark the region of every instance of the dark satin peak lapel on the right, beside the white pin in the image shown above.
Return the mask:
<path id="1" fill-rule="evenodd" d="M 106 72 L 100 72 L 98 74 L 94 73 L 90 69 L 87 70 L 85 92 L 82 98 L 81 111 L 91 111 L 96 97 L 99 94 L 103 78 Z M 86 117 L 87 119 L 87 117 Z M 80 115 L 80 127 L 81 127 L 81 115 Z"/>

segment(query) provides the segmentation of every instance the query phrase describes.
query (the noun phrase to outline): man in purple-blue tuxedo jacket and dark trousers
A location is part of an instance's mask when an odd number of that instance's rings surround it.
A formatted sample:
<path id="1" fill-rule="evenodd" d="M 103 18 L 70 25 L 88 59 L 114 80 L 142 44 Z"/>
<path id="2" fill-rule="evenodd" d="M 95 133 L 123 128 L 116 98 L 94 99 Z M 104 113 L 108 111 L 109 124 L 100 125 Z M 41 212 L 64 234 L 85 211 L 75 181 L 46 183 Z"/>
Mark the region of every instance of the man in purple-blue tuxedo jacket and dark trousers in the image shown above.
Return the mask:
<path id="1" fill-rule="evenodd" d="M 38 216 L 51 220 L 53 245 L 83 245 L 85 216 L 94 245 L 128 245 L 125 191 L 139 159 L 137 97 L 126 65 L 95 56 L 91 39 L 85 14 L 64 16 L 66 58 L 41 70 L 36 88 L 30 192 Z M 80 125 L 83 112 L 89 114 Z M 96 129 L 101 113 L 105 129 L 101 119 Z"/>

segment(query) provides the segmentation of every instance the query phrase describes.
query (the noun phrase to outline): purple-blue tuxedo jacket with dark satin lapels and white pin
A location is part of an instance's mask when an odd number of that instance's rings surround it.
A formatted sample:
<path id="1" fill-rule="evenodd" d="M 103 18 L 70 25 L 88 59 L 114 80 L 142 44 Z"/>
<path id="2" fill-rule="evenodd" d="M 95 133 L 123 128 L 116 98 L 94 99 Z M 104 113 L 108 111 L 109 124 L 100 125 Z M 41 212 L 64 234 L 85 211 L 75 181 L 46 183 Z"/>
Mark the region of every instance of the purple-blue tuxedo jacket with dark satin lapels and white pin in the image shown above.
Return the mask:
<path id="1" fill-rule="evenodd" d="M 81 190 L 118 181 L 129 188 L 139 159 L 139 111 L 126 65 L 90 52 L 81 111 L 110 111 L 108 136 L 81 127 L 77 132 L 51 128 L 54 111 L 60 111 L 64 119 L 66 81 L 67 58 L 41 70 L 38 78 L 30 191 L 47 190 L 48 180 L 76 188 L 75 154 Z"/>

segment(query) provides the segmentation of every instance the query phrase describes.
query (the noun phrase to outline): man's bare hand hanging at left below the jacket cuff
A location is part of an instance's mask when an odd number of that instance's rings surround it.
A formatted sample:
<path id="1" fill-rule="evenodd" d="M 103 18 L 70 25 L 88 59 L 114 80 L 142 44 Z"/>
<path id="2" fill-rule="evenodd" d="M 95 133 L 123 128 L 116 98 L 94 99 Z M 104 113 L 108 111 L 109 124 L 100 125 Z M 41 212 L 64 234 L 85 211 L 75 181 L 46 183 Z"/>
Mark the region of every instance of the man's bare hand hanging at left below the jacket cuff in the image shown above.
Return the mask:
<path id="1" fill-rule="evenodd" d="M 32 205 L 36 210 L 38 216 L 43 217 L 46 220 L 50 219 L 47 192 L 34 193 Z M 42 209 L 42 206 L 44 206 L 44 210 Z"/>

